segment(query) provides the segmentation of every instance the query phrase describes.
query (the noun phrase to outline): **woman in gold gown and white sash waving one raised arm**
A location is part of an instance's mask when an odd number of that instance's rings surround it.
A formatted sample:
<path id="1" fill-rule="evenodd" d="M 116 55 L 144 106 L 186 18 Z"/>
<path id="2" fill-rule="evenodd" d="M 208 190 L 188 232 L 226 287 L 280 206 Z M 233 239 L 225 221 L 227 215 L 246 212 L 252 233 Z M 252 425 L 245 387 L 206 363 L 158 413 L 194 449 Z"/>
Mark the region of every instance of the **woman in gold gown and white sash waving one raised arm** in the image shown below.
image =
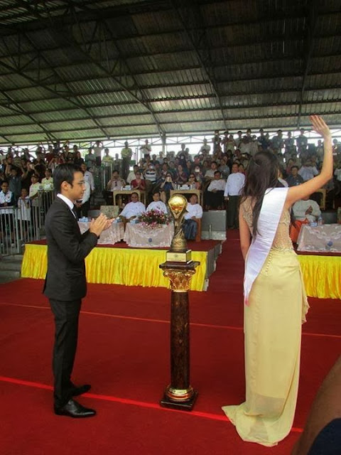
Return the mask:
<path id="1" fill-rule="evenodd" d="M 289 210 L 296 200 L 314 193 L 332 178 L 330 130 L 320 117 L 310 119 L 315 131 L 325 140 L 323 168 L 312 180 L 286 190 L 283 205 L 278 209 L 280 216 L 274 220 L 277 223 L 274 240 L 269 251 L 264 253 L 265 262 L 251 284 L 249 295 L 245 296 L 246 400 L 241 405 L 222 407 L 244 441 L 264 446 L 276 445 L 287 436 L 293 424 L 301 323 L 308 311 L 301 269 L 288 233 Z M 246 272 L 248 261 L 254 259 L 251 257 L 255 254 L 252 244 L 257 236 L 266 237 L 264 223 L 261 225 L 259 220 L 266 211 L 262 207 L 265 197 L 272 197 L 265 195 L 271 193 L 269 188 L 278 186 L 277 177 L 278 161 L 270 151 L 259 152 L 250 161 L 239 210 L 240 243 Z M 266 216 L 271 223 L 269 210 Z"/>

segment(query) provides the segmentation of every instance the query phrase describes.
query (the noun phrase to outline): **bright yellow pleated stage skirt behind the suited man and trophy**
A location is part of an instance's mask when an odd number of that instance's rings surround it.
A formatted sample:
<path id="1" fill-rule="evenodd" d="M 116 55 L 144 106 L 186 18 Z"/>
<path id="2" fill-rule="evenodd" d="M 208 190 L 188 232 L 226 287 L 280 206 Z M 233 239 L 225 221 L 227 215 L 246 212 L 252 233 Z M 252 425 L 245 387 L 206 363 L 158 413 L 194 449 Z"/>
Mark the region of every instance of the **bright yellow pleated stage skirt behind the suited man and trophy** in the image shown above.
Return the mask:
<path id="1" fill-rule="evenodd" d="M 46 245 L 25 245 L 22 278 L 45 279 L 47 248 Z M 205 291 L 207 252 L 193 251 L 192 259 L 199 261 L 200 266 L 192 278 L 190 289 Z M 169 280 L 163 277 L 163 271 L 158 267 L 165 261 L 165 250 L 97 247 L 85 259 L 87 282 L 169 288 Z"/>

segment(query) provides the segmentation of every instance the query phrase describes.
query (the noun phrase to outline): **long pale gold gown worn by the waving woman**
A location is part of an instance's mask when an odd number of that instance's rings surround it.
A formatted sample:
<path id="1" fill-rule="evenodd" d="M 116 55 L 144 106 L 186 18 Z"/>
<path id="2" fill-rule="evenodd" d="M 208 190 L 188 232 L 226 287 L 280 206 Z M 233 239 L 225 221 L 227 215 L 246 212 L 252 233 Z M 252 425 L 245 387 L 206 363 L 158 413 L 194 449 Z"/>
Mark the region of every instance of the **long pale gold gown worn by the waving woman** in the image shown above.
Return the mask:
<path id="1" fill-rule="evenodd" d="M 252 208 L 241 205 L 251 231 Z M 269 256 L 244 306 L 246 401 L 222 410 L 244 441 L 274 446 L 290 432 L 295 414 L 301 323 L 308 301 L 283 210 Z"/>

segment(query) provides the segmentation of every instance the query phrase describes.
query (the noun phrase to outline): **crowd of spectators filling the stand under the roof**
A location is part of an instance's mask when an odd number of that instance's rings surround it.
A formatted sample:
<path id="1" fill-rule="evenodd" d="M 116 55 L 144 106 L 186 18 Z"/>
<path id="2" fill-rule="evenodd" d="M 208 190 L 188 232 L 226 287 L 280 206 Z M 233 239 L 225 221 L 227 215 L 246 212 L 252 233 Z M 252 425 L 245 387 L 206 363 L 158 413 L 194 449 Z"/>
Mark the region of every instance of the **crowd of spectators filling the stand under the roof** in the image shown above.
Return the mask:
<path id="1" fill-rule="evenodd" d="M 94 172 L 102 166 L 112 173 L 108 178 L 107 188 L 103 194 L 107 203 L 112 203 L 112 191 L 131 188 L 146 191 L 147 201 L 153 200 L 158 193 L 163 203 L 170 197 L 171 190 L 195 189 L 204 194 L 204 210 L 225 210 L 229 228 L 237 228 L 237 210 L 239 193 L 244 185 L 245 173 L 249 160 L 257 151 L 271 150 L 278 156 L 281 175 L 278 180 L 283 186 L 295 186 L 316 176 L 323 162 L 323 142 L 309 144 L 304 129 L 298 137 L 291 132 L 283 136 L 278 132 L 269 138 L 263 129 L 258 137 L 251 134 L 228 131 L 220 134 L 216 131 L 212 140 L 204 139 L 197 154 L 190 154 L 185 144 L 180 150 L 163 155 L 153 154 L 148 139 L 140 147 L 141 159 L 134 168 L 130 168 L 133 151 L 129 143 L 124 143 L 121 156 L 111 156 L 109 149 L 104 148 L 102 141 L 96 141 L 83 156 L 77 145 L 72 149 L 67 142 L 49 145 L 44 149 L 39 144 L 36 156 L 28 149 L 21 152 L 9 147 L 7 152 L 0 151 L 0 207 L 22 205 L 34 200 L 39 191 L 53 190 L 53 171 L 62 163 L 77 164 L 85 175 L 86 192 L 76 205 L 79 215 L 87 216 L 90 208 L 90 196 L 95 191 Z M 327 203 L 332 208 L 334 200 L 341 193 L 341 144 L 333 140 L 334 178 L 326 186 Z M 309 205 L 310 210 L 310 205 Z M 310 213 L 308 213 L 310 215 Z"/>

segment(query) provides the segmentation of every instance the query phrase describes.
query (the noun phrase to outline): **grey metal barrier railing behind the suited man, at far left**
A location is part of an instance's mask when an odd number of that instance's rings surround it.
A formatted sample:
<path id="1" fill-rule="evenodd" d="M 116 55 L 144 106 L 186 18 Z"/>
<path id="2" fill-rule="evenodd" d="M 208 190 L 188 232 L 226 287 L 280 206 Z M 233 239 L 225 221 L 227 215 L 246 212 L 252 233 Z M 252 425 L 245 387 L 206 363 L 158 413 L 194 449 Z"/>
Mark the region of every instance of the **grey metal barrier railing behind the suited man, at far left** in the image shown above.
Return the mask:
<path id="1" fill-rule="evenodd" d="M 45 216 L 53 191 L 39 191 L 34 199 L 18 199 L 18 207 L 0 208 L 0 255 L 18 255 L 27 242 L 45 237 Z"/>

